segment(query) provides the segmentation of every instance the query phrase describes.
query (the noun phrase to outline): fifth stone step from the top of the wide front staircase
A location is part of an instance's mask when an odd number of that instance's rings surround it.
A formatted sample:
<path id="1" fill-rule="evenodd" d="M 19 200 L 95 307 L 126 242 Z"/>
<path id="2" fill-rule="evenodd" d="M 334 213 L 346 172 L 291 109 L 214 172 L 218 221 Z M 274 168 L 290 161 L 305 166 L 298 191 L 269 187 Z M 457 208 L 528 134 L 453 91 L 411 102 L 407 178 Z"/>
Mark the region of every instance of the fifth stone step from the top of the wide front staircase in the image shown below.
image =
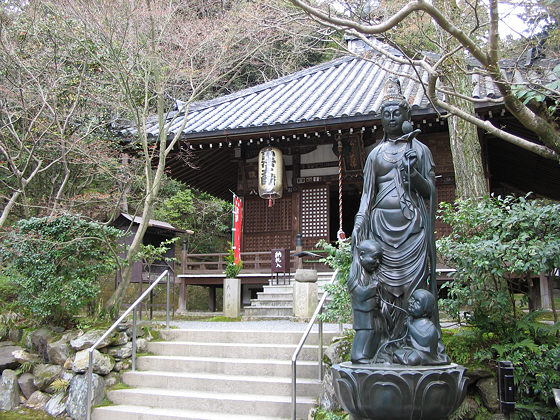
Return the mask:
<path id="1" fill-rule="evenodd" d="M 229 391 L 229 392 L 228 392 Z M 289 417 L 291 398 L 279 395 L 259 395 L 223 392 L 198 392 L 161 388 L 119 389 L 107 392 L 107 397 L 116 404 L 142 405 L 155 408 L 197 410 L 242 415 Z M 315 404 L 314 398 L 297 399 L 297 417 L 307 418 Z"/>

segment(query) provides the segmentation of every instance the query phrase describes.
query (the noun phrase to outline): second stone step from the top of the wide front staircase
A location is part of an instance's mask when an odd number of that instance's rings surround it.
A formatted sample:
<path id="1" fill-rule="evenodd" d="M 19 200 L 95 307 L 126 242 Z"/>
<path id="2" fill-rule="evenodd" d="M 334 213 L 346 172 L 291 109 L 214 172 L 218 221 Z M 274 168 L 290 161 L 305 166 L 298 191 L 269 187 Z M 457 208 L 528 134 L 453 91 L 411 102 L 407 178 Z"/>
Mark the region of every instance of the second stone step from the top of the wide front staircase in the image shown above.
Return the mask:
<path id="1" fill-rule="evenodd" d="M 195 341 L 159 341 L 148 343 L 148 351 L 160 356 L 221 357 L 249 359 L 289 360 L 296 349 L 295 344 L 245 344 Z M 305 345 L 300 360 L 317 359 L 318 346 Z"/>

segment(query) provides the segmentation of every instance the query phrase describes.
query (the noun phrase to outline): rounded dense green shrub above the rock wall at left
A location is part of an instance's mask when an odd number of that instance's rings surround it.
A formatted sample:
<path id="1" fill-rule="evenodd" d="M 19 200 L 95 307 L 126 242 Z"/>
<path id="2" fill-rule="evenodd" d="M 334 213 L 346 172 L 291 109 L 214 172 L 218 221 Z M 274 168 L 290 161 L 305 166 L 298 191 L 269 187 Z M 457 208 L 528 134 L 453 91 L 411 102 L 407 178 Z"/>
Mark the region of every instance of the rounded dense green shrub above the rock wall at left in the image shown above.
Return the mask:
<path id="1" fill-rule="evenodd" d="M 66 326 L 100 292 L 115 268 L 118 229 L 64 215 L 20 220 L 0 245 L 3 274 L 17 306 L 37 322 Z"/>

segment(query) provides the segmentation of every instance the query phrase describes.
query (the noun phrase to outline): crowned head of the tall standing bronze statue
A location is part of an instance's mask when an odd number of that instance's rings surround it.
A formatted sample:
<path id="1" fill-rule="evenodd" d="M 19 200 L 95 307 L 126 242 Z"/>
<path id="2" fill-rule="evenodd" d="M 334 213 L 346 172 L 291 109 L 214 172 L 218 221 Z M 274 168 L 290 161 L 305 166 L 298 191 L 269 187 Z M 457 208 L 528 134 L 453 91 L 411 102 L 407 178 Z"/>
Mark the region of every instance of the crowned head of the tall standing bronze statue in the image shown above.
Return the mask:
<path id="1" fill-rule="evenodd" d="M 385 82 L 380 112 L 381 125 L 387 135 L 400 136 L 412 131 L 410 106 L 402 94 L 401 84 L 396 77 L 391 76 Z"/>

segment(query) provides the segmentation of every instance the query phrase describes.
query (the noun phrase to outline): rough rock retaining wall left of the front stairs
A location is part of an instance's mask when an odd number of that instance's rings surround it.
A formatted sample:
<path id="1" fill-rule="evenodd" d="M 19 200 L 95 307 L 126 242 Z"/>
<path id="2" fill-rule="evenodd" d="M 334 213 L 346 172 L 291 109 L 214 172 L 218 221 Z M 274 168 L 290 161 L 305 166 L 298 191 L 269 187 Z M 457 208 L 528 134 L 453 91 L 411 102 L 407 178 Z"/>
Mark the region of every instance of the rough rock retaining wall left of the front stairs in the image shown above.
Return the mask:
<path id="1" fill-rule="evenodd" d="M 40 328 L 23 333 L 3 329 L 0 339 L 0 410 L 21 407 L 44 410 L 53 417 L 84 419 L 87 396 L 88 351 L 105 330 Z M 137 327 L 137 352 L 146 349 L 152 334 Z M 93 403 L 105 389 L 121 382 L 120 372 L 131 367 L 132 326 L 121 324 L 94 350 Z"/>

